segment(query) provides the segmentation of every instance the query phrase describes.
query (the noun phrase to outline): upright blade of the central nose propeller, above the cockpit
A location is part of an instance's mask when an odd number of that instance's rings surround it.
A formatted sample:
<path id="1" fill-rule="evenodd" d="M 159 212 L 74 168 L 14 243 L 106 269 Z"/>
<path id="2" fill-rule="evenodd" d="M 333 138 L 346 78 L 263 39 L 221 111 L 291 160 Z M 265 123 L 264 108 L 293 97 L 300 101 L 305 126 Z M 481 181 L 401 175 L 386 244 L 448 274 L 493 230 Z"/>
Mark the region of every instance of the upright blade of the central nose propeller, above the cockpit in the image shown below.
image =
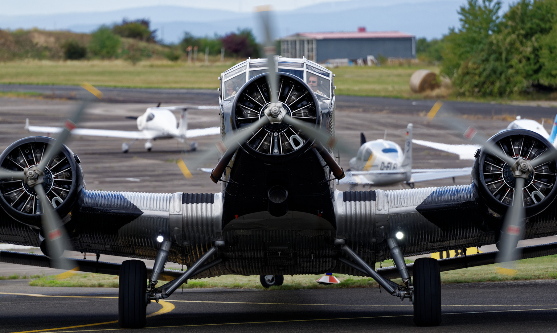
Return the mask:
<path id="1" fill-rule="evenodd" d="M 263 30 L 263 35 L 265 35 L 265 42 L 263 44 L 263 53 L 267 57 L 268 71 L 267 71 L 267 82 L 269 84 L 271 103 L 276 103 L 278 101 L 277 93 L 277 74 L 276 74 L 276 45 L 273 38 L 273 19 L 271 6 L 259 6 L 256 7 L 258 16 L 260 19 L 260 24 Z"/>

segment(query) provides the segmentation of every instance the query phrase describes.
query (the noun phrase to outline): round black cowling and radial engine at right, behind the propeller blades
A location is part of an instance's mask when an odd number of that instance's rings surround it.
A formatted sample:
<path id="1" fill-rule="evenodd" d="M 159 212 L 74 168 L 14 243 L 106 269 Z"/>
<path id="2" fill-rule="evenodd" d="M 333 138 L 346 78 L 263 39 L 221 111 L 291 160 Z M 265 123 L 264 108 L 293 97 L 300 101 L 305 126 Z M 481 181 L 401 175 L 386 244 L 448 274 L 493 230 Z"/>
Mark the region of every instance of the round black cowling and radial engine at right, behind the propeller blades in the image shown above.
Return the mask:
<path id="1" fill-rule="evenodd" d="M 494 143 L 511 158 L 531 161 L 545 151 L 553 150 L 553 145 L 538 133 L 523 130 L 504 130 L 492 136 L 488 141 Z M 502 217 L 512 205 L 515 191 L 515 178 L 511 166 L 494 155 L 481 150 L 476 156 L 473 167 L 473 182 L 490 214 Z M 534 168 L 534 172 L 525 181 L 524 207 L 526 217 L 534 216 L 547 208 L 555 199 L 557 189 L 557 160 L 551 160 Z"/>

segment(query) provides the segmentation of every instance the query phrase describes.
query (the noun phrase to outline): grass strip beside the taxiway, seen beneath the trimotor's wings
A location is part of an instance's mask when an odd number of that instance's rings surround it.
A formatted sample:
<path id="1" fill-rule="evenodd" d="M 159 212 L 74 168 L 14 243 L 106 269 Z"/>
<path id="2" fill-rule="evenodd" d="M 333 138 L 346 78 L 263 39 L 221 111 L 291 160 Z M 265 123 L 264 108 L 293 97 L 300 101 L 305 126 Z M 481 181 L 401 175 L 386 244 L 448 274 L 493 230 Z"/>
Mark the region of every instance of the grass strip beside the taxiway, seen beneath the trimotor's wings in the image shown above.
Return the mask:
<path id="1" fill-rule="evenodd" d="M 407 261 L 411 262 L 411 261 Z M 392 265 L 385 261 L 383 266 Z M 523 259 L 517 262 L 519 273 L 515 276 L 501 275 L 495 272 L 496 265 L 463 268 L 461 270 L 441 273 L 442 283 L 470 283 L 486 281 L 516 281 L 557 278 L 557 255 Z M 65 273 L 64 273 L 65 274 Z M 271 290 L 315 289 L 315 288 L 368 288 L 377 287 L 372 278 L 335 274 L 340 280 L 338 285 L 320 285 L 315 282 L 321 275 L 285 276 L 282 286 L 273 286 Z M 17 278 L 17 277 L 11 277 Z M 75 274 L 67 278 L 57 276 L 34 276 L 30 286 L 41 287 L 118 287 L 118 276 L 94 273 Z M 393 280 L 401 283 L 400 279 Z M 164 282 L 159 282 L 162 285 Z M 237 288 L 263 289 L 259 276 L 224 275 L 211 278 L 189 280 L 184 288 Z"/>

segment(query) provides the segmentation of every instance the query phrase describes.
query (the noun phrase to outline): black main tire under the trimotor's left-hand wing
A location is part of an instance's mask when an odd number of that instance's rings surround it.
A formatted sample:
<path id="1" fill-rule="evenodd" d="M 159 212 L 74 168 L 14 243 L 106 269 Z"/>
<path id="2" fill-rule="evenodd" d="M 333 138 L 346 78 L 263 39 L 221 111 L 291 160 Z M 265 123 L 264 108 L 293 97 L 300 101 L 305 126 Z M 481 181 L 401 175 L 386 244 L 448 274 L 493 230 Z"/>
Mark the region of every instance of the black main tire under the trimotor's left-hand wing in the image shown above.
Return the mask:
<path id="1" fill-rule="evenodd" d="M 120 266 L 118 287 L 118 324 L 123 329 L 145 327 L 147 272 L 140 260 L 126 260 Z"/>

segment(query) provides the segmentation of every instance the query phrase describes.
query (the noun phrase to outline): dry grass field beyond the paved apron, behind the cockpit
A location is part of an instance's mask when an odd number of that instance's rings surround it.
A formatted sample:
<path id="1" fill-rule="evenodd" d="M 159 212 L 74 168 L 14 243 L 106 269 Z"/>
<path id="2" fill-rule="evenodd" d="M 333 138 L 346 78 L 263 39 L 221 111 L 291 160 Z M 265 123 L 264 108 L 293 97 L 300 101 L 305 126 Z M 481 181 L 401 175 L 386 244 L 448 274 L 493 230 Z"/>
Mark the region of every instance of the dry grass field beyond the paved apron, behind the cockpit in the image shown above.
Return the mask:
<path id="1" fill-rule="evenodd" d="M 217 89 L 217 77 L 240 60 L 196 65 L 151 60 L 133 65 L 111 61 L 12 61 L 0 63 L 0 84 Z M 421 98 L 409 88 L 410 76 L 431 66 L 383 66 L 334 68 L 336 93 L 340 95 Z"/>

